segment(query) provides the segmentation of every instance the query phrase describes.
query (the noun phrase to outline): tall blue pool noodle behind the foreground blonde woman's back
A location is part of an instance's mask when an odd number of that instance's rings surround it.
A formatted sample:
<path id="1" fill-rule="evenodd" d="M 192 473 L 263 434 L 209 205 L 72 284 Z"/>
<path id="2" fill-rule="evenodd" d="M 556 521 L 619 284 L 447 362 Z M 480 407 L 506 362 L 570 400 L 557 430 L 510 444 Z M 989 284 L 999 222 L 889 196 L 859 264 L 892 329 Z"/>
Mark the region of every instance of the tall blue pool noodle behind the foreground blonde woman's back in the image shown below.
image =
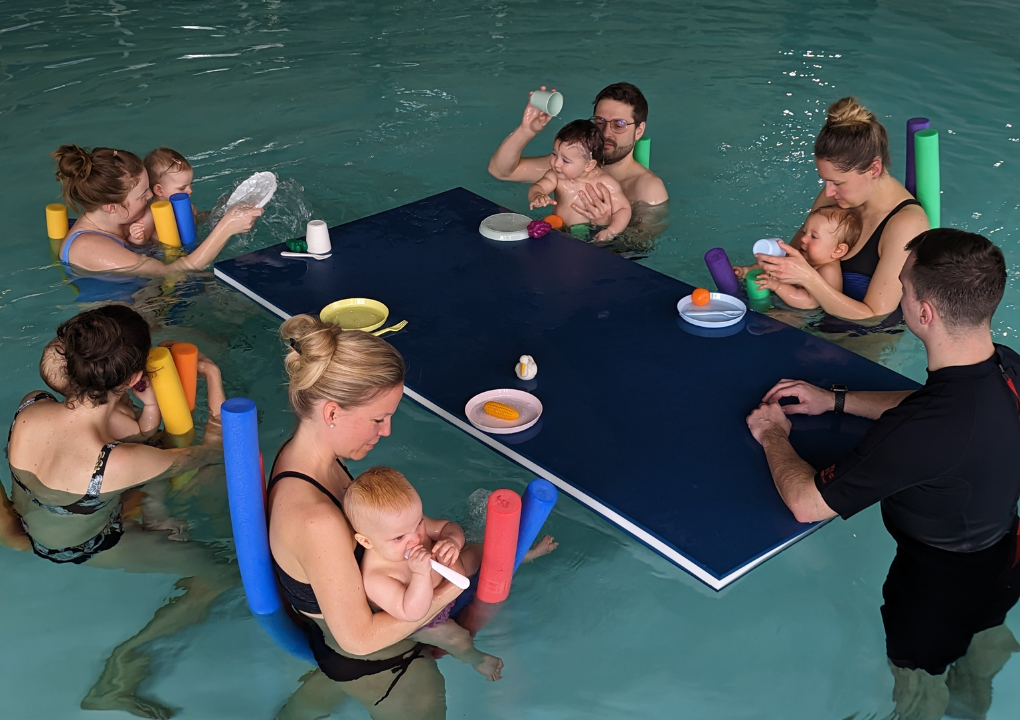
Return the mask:
<path id="1" fill-rule="evenodd" d="M 276 645 L 301 660 L 314 663 L 307 635 L 284 608 L 269 557 L 265 480 L 259 462 L 255 403 L 248 398 L 231 398 L 223 403 L 220 413 L 231 524 L 248 607 Z"/>

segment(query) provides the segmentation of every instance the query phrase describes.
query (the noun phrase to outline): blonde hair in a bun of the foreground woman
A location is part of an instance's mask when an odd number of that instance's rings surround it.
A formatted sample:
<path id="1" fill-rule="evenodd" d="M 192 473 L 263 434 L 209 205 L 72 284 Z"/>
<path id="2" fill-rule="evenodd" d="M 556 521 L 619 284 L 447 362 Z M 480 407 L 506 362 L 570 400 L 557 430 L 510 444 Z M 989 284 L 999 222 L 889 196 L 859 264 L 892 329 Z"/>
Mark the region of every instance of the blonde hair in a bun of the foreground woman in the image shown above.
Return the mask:
<path id="1" fill-rule="evenodd" d="M 404 358 L 368 332 L 344 331 L 317 317 L 295 315 L 279 333 L 291 344 L 284 365 L 291 407 L 301 417 L 311 417 L 317 401 L 333 401 L 349 410 L 404 382 Z"/>

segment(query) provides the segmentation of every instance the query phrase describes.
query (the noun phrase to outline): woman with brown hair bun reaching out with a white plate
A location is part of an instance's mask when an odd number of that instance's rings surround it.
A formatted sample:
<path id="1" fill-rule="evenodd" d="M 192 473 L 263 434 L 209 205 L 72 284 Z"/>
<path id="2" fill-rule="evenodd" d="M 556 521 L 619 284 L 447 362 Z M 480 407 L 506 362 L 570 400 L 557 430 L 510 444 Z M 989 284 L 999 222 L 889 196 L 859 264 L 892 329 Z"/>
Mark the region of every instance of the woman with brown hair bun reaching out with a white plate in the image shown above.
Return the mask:
<path id="1" fill-rule="evenodd" d="M 86 273 L 158 276 L 167 272 L 202 270 L 212 264 L 226 241 L 251 229 L 261 208 L 235 205 L 209 237 L 190 255 L 162 263 L 149 248 L 136 245 L 131 225 L 148 208 L 152 193 L 145 165 L 134 153 L 113 148 L 61 145 L 53 153 L 64 200 L 81 208 L 60 246 L 60 262 L 71 277 Z"/>

